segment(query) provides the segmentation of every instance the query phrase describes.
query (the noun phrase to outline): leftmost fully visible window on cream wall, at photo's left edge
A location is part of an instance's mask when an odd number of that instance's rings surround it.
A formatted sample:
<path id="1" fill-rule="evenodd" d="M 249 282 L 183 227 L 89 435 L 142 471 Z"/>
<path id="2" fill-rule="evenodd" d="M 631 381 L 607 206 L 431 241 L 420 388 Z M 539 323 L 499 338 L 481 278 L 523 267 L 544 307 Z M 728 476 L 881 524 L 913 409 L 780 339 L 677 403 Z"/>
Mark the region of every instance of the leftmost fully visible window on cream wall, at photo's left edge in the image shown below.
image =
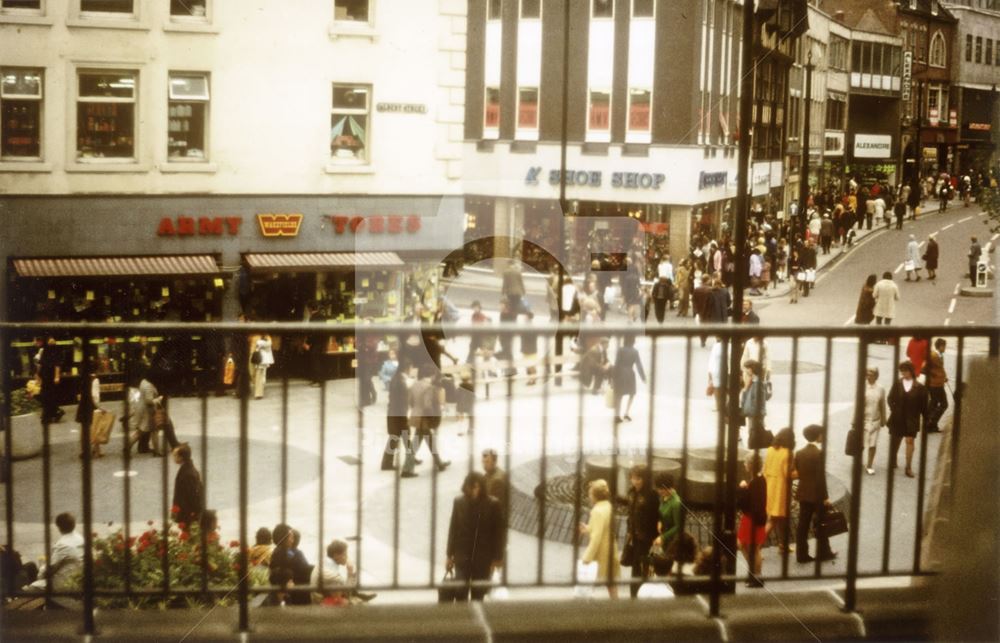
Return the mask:
<path id="1" fill-rule="evenodd" d="M 42 71 L 7 67 L 0 74 L 0 157 L 41 158 Z"/>

